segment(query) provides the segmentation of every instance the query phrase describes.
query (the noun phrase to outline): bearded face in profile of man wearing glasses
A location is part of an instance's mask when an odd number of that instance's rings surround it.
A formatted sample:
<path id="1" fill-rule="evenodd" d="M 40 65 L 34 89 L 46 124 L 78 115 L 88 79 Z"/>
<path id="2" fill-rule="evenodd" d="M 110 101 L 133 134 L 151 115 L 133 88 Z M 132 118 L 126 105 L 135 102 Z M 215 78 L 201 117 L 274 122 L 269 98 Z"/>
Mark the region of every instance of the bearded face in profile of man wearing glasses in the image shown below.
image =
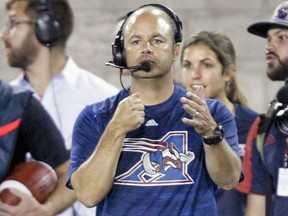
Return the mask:
<path id="1" fill-rule="evenodd" d="M 8 11 L 9 23 L 2 33 L 8 63 L 12 67 L 26 69 L 37 55 L 37 39 L 33 23 L 24 13 L 26 1 L 15 2 Z M 24 21 L 24 22 L 23 22 Z"/>

